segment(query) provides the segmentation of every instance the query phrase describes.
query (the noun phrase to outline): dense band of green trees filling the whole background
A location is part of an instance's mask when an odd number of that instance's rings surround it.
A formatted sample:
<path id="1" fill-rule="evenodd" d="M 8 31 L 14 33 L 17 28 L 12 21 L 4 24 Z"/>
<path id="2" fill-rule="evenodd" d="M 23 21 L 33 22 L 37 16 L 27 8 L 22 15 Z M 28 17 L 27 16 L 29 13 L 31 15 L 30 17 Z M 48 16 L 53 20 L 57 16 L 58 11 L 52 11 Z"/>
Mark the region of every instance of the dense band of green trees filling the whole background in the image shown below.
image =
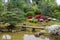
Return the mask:
<path id="1" fill-rule="evenodd" d="M 30 15 L 40 13 L 44 16 L 60 18 L 60 8 L 57 6 L 55 0 L 32 0 L 32 3 L 29 1 L 30 0 L 9 0 L 6 4 L 1 1 L 0 21 L 13 22 L 12 24 L 21 22 L 26 17 L 24 17 L 24 15 L 29 12 L 32 12 Z"/>

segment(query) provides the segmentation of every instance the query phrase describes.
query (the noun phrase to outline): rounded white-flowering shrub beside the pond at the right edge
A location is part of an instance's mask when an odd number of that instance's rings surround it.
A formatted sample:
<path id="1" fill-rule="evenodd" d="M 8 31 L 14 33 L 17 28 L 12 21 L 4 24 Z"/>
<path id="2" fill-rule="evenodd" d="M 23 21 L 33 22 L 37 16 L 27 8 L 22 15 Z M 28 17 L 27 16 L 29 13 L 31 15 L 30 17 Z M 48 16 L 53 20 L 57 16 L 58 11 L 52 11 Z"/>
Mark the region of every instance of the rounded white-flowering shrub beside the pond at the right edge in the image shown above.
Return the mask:
<path id="1" fill-rule="evenodd" d="M 48 32 L 50 34 L 60 35 L 60 25 L 51 25 L 48 27 Z"/>

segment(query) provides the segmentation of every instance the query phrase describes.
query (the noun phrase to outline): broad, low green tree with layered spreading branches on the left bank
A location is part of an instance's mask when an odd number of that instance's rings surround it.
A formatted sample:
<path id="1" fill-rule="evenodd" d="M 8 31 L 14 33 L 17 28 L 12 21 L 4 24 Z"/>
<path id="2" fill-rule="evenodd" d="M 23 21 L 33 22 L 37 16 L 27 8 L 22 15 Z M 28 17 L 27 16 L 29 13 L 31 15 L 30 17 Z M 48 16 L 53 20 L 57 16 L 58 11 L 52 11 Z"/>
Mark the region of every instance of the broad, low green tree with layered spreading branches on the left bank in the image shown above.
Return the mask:
<path id="1" fill-rule="evenodd" d="M 6 12 L 2 13 L 1 21 L 15 25 L 24 20 L 24 12 Z"/>

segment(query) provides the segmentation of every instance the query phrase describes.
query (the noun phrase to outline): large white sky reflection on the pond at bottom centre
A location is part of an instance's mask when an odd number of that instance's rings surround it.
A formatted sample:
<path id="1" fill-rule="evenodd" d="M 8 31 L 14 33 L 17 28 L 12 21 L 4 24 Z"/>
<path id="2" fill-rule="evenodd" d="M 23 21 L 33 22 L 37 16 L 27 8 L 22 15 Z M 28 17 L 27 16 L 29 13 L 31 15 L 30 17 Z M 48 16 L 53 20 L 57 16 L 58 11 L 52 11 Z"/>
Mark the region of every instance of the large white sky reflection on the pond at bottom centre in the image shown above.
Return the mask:
<path id="1" fill-rule="evenodd" d="M 35 37 L 34 35 L 24 35 L 24 40 L 50 40 L 48 37 L 41 35 L 40 37 Z"/>

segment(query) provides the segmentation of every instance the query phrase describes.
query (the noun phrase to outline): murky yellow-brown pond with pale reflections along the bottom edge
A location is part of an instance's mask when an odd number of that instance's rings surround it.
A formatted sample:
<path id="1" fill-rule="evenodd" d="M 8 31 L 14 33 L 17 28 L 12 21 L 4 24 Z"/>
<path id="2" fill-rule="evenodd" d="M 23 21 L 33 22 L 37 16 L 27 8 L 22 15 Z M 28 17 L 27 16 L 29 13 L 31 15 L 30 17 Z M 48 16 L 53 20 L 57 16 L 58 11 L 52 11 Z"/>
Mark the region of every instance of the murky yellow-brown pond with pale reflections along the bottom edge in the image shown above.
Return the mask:
<path id="1" fill-rule="evenodd" d="M 10 35 L 11 40 L 60 40 L 60 36 L 53 35 L 40 35 L 39 37 L 35 37 L 32 32 L 17 32 L 17 33 L 0 33 L 0 40 L 2 40 L 3 35 Z M 59 37 L 59 38 L 57 38 Z M 57 38 L 57 39 L 56 39 Z"/>

